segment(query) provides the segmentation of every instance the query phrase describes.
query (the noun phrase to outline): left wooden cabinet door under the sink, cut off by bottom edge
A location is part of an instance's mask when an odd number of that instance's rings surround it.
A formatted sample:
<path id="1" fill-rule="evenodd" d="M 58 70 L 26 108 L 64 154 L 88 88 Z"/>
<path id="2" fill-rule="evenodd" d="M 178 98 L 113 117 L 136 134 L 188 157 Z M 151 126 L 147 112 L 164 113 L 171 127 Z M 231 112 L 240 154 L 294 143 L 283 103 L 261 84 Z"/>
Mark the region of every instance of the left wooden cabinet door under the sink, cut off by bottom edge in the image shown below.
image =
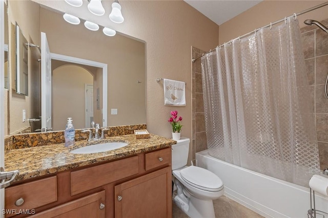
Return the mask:
<path id="1" fill-rule="evenodd" d="M 36 213 L 30 217 L 105 218 L 105 190 L 79 198 L 49 210 Z"/>

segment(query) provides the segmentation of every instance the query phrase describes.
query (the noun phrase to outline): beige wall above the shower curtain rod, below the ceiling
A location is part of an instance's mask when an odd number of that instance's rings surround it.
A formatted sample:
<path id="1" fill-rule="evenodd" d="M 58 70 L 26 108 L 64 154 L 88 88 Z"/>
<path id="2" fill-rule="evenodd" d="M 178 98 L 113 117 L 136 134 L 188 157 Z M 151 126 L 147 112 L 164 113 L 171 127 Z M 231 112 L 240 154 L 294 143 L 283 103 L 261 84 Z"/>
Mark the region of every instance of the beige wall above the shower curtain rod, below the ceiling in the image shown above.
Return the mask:
<path id="1" fill-rule="evenodd" d="M 219 43 L 223 44 L 239 35 L 246 34 L 280 20 L 285 16 L 301 12 L 305 9 L 322 4 L 325 1 L 273 1 L 265 0 L 240 15 L 220 25 Z M 315 11 L 299 15 L 297 18 L 300 27 L 305 27 L 305 19 L 323 20 L 328 14 L 328 7 L 322 7 Z"/>

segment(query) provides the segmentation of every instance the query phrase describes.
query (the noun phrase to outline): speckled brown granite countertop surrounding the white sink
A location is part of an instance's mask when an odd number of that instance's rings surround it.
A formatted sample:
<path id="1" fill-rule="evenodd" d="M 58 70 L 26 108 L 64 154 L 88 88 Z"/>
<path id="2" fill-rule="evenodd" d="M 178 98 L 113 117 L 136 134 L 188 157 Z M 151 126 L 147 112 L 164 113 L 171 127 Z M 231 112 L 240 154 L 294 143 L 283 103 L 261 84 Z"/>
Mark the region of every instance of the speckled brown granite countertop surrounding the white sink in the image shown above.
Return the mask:
<path id="1" fill-rule="evenodd" d="M 90 144 L 121 141 L 128 146 L 108 152 L 93 154 L 72 154 L 71 150 Z M 78 141 L 73 147 L 66 148 L 64 143 L 37 146 L 33 148 L 13 149 L 5 155 L 6 171 L 19 170 L 15 181 L 66 171 L 116 158 L 127 157 L 142 152 L 170 147 L 175 140 L 150 134 L 150 138 L 136 139 L 134 134 L 108 137 L 99 141 Z"/>

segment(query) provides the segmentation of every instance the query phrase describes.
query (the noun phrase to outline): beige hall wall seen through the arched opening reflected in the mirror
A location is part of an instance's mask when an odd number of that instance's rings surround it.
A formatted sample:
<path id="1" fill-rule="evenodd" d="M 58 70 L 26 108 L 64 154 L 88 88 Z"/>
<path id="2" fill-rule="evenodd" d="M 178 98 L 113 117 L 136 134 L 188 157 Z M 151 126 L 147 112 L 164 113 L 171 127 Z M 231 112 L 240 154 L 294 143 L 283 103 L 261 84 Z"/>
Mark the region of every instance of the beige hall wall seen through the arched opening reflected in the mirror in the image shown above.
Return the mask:
<path id="1" fill-rule="evenodd" d="M 85 124 L 85 84 L 93 84 L 93 76 L 80 66 L 64 65 L 53 70 L 52 125 L 54 131 L 64 130 L 67 118 L 73 118 L 75 129 Z"/>

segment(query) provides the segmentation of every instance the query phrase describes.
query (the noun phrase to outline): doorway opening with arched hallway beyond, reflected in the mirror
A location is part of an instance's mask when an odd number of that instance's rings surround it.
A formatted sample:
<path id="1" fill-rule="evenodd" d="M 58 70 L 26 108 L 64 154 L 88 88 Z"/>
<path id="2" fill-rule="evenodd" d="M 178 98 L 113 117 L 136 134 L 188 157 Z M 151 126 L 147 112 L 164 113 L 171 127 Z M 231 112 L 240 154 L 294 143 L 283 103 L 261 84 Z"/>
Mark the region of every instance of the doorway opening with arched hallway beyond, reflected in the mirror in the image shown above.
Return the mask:
<path id="1" fill-rule="evenodd" d="M 90 128 L 91 122 L 101 124 L 103 69 L 58 60 L 52 60 L 51 67 L 53 130 L 63 130 L 66 118 L 72 114 L 81 117 L 73 119 L 75 129 Z M 74 101 L 70 95 L 76 96 Z"/>

